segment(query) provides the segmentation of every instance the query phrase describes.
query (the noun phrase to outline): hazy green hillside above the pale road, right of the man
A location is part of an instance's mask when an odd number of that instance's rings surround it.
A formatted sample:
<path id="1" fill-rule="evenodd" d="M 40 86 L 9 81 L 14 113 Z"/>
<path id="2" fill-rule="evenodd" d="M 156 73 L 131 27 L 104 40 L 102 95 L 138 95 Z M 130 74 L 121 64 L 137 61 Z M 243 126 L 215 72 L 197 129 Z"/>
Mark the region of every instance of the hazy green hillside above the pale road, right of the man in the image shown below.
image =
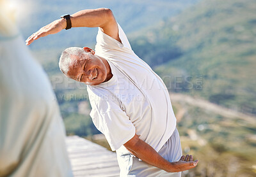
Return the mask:
<path id="1" fill-rule="evenodd" d="M 165 62 L 155 70 L 171 91 L 256 115 L 255 11 L 253 0 L 202 1 L 144 32 L 133 48 L 152 66 Z"/>

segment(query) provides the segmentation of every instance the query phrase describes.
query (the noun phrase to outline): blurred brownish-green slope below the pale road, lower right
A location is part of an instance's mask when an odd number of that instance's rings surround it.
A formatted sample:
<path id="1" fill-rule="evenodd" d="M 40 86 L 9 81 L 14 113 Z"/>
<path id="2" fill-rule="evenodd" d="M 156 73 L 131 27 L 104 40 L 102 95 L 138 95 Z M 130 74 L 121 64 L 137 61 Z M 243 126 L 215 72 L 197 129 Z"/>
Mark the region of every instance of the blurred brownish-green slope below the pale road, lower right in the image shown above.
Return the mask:
<path id="1" fill-rule="evenodd" d="M 255 176 L 255 117 L 184 94 L 170 97 L 182 149 L 199 159 L 187 176 Z"/>

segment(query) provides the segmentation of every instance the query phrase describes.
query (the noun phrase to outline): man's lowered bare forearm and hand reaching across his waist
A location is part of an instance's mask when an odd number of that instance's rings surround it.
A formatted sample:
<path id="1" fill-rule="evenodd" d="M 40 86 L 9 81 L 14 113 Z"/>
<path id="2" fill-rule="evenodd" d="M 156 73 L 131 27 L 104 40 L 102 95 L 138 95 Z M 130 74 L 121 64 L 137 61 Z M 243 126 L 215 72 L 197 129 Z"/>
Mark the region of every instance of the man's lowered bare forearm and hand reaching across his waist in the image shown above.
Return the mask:
<path id="1" fill-rule="evenodd" d="M 192 155 L 186 155 L 186 157 L 182 155 L 178 162 L 168 162 L 168 160 L 161 157 L 154 148 L 142 141 L 136 134 L 124 146 L 139 159 L 167 172 L 186 171 L 196 167 L 198 163 L 198 160 L 193 161 Z"/>

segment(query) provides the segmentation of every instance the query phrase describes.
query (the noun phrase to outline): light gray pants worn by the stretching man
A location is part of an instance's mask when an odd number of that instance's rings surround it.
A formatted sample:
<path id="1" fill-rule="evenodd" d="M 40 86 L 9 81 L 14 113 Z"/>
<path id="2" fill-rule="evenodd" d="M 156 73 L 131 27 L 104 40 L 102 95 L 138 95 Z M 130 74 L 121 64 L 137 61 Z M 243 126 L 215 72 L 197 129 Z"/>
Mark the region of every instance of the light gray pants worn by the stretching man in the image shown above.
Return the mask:
<path id="1" fill-rule="evenodd" d="M 163 145 L 161 150 L 158 152 L 164 159 L 169 162 L 179 161 L 182 156 L 182 149 L 180 145 L 180 136 L 177 129 L 173 132 L 172 136 Z M 137 177 L 156 177 L 156 176 L 172 176 L 180 177 L 180 173 L 167 173 L 166 171 L 157 167 L 151 166 L 131 153 L 118 153 L 117 159 L 120 166 L 120 176 L 137 176 Z"/>

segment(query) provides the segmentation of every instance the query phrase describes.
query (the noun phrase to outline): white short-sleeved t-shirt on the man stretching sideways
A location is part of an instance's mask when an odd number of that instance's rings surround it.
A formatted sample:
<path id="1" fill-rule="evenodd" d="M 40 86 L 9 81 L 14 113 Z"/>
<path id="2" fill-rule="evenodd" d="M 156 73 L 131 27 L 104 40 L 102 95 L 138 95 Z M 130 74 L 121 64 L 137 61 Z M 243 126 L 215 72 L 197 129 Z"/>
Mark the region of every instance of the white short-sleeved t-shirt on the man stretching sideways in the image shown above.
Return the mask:
<path id="1" fill-rule="evenodd" d="M 132 51 L 120 25 L 118 32 L 122 43 L 100 29 L 97 34 L 95 55 L 108 60 L 113 77 L 99 85 L 88 85 L 90 116 L 111 150 L 120 149 L 136 133 L 158 152 L 176 127 L 168 90 Z"/>

